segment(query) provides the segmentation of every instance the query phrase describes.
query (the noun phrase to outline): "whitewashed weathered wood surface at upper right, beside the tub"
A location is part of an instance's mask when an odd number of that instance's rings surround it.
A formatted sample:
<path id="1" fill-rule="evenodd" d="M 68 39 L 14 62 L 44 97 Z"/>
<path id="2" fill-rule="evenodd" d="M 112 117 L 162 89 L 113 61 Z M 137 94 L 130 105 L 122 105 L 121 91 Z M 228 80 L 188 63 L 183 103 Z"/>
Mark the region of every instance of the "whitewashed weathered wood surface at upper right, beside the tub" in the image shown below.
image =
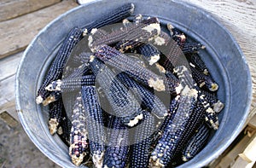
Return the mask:
<path id="1" fill-rule="evenodd" d="M 256 111 L 256 1 L 255 0 L 183 0 L 195 4 L 201 9 L 205 9 L 212 13 L 231 34 L 236 38 L 236 41 L 241 46 L 241 49 L 246 56 L 247 63 L 253 78 L 253 101 L 252 111 L 249 118 L 252 118 Z"/>

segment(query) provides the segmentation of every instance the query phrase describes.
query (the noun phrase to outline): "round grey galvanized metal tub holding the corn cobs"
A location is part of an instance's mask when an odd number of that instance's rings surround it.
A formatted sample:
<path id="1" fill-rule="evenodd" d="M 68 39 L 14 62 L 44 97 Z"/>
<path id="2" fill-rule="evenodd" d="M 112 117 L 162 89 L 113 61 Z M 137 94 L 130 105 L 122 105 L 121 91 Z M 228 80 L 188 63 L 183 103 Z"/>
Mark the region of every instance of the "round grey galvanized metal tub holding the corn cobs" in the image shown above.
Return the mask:
<path id="1" fill-rule="evenodd" d="M 17 71 L 16 108 L 20 123 L 32 142 L 49 159 L 62 167 L 76 167 L 69 159 L 67 146 L 58 136 L 49 134 L 47 107 L 36 104 L 37 90 L 61 41 L 73 26 L 89 25 L 108 10 L 127 2 L 136 5 L 135 14 L 156 16 L 161 22 L 171 22 L 207 47 L 201 55 L 219 84 L 218 97 L 224 101 L 225 107 L 219 116 L 220 127 L 207 147 L 180 167 L 207 165 L 222 154 L 241 131 L 250 107 L 252 81 L 245 57 L 230 32 L 211 14 L 188 3 L 173 0 L 157 3 L 154 0 L 113 0 L 110 3 L 98 0 L 72 9 L 50 22 L 27 47 Z"/>

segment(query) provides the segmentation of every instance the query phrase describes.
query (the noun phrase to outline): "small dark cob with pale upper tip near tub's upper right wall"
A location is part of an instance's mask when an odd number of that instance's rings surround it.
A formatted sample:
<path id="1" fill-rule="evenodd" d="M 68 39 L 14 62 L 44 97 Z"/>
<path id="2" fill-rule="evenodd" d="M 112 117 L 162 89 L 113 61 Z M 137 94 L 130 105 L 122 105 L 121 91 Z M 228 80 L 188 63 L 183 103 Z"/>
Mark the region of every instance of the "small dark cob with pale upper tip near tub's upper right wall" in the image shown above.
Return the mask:
<path id="1" fill-rule="evenodd" d="M 172 36 L 172 39 L 182 49 L 184 43 L 186 42 L 186 36 L 183 34 L 183 32 L 179 31 L 176 27 L 172 26 L 171 24 L 167 24 L 167 28 Z"/>

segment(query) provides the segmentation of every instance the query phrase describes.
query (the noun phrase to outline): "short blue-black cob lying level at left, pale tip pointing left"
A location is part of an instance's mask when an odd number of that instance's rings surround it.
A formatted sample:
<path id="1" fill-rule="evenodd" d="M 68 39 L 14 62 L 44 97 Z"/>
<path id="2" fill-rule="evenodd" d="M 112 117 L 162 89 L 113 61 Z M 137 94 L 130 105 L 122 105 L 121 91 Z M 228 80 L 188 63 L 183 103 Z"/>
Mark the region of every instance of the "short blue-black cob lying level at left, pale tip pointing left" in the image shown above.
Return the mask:
<path id="1" fill-rule="evenodd" d="M 63 78 L 53 81 L 45 89 L 49 91 L 73 91 L 81 89 L 82 85 L 95 85 L 95 75 L 88 74 L 76 78 Z"/>

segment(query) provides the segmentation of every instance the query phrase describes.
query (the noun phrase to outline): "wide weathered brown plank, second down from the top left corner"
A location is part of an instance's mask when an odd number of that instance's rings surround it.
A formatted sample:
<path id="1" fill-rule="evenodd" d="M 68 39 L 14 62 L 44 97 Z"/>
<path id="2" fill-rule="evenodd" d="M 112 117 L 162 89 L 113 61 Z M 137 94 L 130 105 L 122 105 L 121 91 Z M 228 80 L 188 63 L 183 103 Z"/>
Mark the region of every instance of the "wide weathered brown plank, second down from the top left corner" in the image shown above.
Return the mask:
<path id="1" fill-rule="evenodd" d="M 25 49 L 49 21 L 76 6 L 78 4 L 73 1 L 62 1 L 49 8 L 0 22 L 0 59 Z"/>

